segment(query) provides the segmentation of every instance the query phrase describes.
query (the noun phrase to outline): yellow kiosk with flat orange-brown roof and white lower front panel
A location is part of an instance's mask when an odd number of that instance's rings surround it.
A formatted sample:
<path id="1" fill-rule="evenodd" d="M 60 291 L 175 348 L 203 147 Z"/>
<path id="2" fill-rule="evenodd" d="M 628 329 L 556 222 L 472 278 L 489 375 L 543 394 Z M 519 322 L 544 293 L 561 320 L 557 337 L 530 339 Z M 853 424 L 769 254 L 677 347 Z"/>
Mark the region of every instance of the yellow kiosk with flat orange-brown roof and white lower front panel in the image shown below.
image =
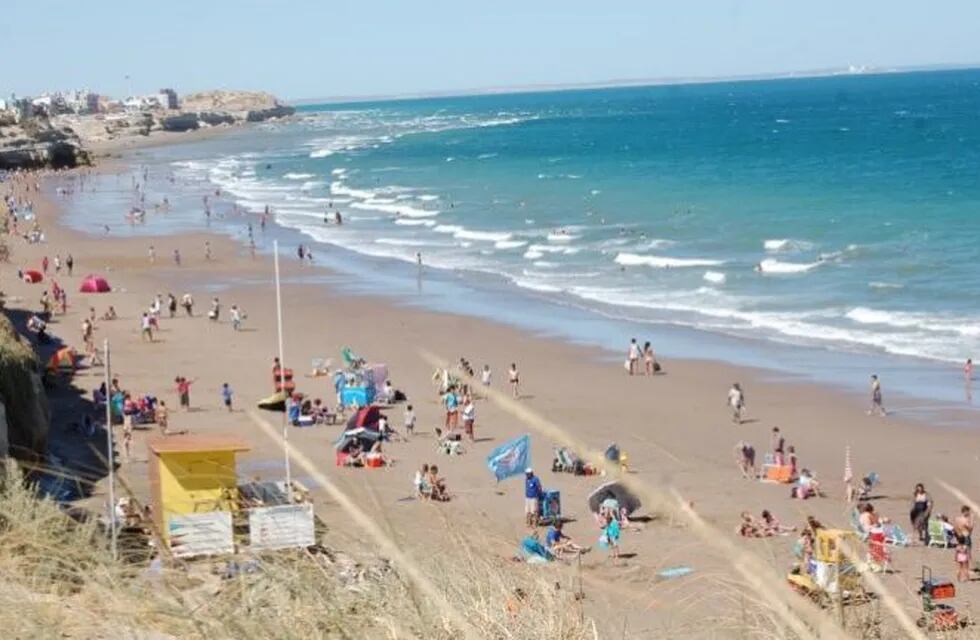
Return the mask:
<path id="1" fill-rule="evenodd" d="M 169 436 L 147 447 L 150 504 L 163 543 L 178 557 L 233 553 L 235 458 L 248 444 L 228 436 Z"/>

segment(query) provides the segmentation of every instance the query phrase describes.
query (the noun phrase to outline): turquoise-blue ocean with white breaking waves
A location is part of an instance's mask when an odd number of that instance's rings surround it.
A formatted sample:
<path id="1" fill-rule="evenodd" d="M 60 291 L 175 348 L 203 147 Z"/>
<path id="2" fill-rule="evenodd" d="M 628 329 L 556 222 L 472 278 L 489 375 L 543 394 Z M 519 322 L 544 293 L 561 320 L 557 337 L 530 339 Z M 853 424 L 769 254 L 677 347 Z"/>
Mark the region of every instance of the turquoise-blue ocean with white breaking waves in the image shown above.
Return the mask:
<path id="1" fill-rule="evenodd" d="M 126 225 L 115 178 L 72 223 L 244 241 L 269 206 L 290 253 L 351 277 L 420 255 L 489 309 L 628 323 L 624 345 L 683 327 L 954 380 L 980 356 L 978 70 L 308 105 L 140 160 L 167 214 Z"/>

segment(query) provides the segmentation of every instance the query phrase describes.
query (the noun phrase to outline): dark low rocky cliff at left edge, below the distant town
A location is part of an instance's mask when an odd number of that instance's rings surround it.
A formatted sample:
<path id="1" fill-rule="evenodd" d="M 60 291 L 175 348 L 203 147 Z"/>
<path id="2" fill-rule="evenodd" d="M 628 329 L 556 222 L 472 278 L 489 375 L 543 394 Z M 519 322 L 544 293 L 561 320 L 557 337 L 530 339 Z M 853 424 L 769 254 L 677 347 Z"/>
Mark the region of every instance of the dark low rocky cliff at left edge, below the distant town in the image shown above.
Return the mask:
<path id="1" fill-rule="evenodd" d="M 67 127 L 52 126 L 44 119 L 0 123 L 0 170 L 64 169 L 89 163 L 88 153 Z"/>

